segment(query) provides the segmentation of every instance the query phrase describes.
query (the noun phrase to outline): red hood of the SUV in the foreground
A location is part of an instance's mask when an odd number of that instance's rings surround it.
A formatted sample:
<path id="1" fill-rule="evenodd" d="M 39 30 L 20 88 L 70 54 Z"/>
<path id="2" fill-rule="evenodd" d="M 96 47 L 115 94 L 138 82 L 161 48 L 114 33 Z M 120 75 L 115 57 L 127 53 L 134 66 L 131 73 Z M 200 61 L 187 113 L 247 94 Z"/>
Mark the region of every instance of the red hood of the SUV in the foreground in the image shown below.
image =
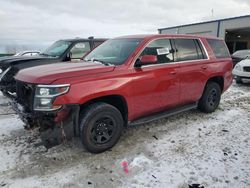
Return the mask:
<path id="1" fill-rule="evenodd" d="M 56 63 L 23 69 L 15 76 L 16 80 L 35 83 L 50 84 L 55 80 L 97 74 L 113 71 L 115 66 L 105 66 L 94 62 Z"/>

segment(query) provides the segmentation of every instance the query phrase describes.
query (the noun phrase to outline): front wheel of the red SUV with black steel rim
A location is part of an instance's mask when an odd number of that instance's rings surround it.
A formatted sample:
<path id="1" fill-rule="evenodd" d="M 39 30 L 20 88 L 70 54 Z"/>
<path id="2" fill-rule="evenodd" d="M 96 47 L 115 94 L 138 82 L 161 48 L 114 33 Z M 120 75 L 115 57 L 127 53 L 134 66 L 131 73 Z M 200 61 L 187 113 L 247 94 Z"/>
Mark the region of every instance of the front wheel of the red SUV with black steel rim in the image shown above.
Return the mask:
<path id="1" fill-rule="evenodd" d="M 91 104 L 80 118 L 80 137 L 89 152 L 101 153 L 118 142 L 124 121 L 114 106 L 107 103 Z"/>

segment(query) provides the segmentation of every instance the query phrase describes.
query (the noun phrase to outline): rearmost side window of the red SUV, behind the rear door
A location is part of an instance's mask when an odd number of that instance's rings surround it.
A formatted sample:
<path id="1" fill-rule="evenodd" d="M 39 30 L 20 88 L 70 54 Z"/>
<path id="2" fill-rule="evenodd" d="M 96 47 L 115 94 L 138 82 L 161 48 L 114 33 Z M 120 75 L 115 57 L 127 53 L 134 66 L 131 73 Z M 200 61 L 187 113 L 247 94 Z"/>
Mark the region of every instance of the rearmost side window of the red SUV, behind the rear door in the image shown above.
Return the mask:
<path id="1" fill-rule="evenodd" d="M 230 58 L 230 54 L 223 40 L 207 39 L 207 42 L 212 48 L 216 58 Z"/>

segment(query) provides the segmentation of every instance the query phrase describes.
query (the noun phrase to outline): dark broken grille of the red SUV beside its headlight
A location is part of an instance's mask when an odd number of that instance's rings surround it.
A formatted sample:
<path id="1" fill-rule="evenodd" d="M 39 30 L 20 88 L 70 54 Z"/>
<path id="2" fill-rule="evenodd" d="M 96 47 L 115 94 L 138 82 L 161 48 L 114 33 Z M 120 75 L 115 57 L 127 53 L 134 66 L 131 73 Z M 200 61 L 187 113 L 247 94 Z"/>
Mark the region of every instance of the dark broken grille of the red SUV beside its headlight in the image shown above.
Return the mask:
<path id="1" fill-rule="evenodd" d="M 32 111 L 34 91 L 34 86 L 31 84 L 19 81 L 16 84 L 17 101 L 28 112 Z"/>

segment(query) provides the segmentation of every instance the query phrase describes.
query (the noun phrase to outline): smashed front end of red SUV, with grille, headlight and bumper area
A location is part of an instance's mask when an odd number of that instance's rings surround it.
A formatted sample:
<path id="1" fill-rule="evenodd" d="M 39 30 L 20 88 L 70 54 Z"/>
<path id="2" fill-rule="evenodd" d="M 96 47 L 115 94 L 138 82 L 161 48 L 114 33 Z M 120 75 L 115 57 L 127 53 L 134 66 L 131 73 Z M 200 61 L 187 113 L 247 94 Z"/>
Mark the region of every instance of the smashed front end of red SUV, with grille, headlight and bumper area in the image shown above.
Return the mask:
<path id="1" fill-rule="evenodd" d="M 47 148 L 78 135 L 79 105 L 53 105 L 57 96 L 68 92 L 68 87 L 16 83 L 12 107 L 26 129 L 39 128 L 42 142 Z"/>

